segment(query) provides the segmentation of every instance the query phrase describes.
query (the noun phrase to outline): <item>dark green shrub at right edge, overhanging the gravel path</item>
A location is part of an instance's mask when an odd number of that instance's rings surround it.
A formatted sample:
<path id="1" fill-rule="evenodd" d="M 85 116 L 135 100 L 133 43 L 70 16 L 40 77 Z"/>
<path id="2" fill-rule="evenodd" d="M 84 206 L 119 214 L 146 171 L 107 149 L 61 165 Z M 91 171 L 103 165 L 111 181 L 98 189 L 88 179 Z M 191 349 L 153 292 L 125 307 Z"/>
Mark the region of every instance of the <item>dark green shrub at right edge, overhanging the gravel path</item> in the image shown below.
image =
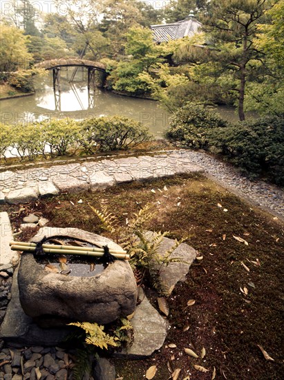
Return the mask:
<path id="1" fill-rule="evenodd" d="M 284 184 L 283 117 L 263 117 L 211 131 L 210 144 L 245 171 L 266 173 L 277 184 Z"/>

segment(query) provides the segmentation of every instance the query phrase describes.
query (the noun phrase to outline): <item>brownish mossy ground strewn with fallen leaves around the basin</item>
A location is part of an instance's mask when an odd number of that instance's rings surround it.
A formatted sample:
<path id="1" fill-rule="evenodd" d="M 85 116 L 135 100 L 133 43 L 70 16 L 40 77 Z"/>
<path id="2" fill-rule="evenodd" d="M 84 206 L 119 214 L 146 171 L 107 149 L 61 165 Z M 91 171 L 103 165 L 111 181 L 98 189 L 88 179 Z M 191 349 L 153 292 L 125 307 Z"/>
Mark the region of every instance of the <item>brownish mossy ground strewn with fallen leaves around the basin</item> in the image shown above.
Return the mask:
<path id="1" fill-rule="evenodd" d="M 82 204 L 77 203 L 79 199 Z M 171 359 L 173 368 L 181 369 L 178 379 L 189 374 L 191 380 L 211 379 L 214 367 L 216 379 L 282 379 L 284 229 L 279 221 L 252 209 L 202 175 L 133 182 L 94 193 L 62 194 L 24 206 L 3 205 L 1 209 L 10 213 L 15 229 L 23 216 L 38 212 L 50 220 L 50 226 L 104 234 L 88 202 L 98 209 L 108 205 L 121 223 L 150 202 L 155 215 L 146 227 L 170 231 L 174 238 L 189 236 L 187 243 L 203 256 L 191 266 L 187 281 L 179 283 L 167 300 L 171 328 L 161 350 L 143 361 L 115 360 L 117 377 L 141 380 L 147 368 L 157 365 L 154 379 L 165 380 L 170 377 L 167 363 Z M 252 263 L 257 258 L 260 266 Z M 240 287 L 247 287 L 247 296 Z M 158 295 L 146 287 L 145 291 L 158 308 Z M 190 299 L 196 303 L 187 307 Z M 169 343 L 177 347 L 169 348 Z M 258 345 L 273 362 L 265 360 Z M 191 348 L 200 355 L 202 347 L 206 349 L 204 359 L 184 354 L 184 348 Z M 198 372 L 194 364 L 209 372 Z"/>

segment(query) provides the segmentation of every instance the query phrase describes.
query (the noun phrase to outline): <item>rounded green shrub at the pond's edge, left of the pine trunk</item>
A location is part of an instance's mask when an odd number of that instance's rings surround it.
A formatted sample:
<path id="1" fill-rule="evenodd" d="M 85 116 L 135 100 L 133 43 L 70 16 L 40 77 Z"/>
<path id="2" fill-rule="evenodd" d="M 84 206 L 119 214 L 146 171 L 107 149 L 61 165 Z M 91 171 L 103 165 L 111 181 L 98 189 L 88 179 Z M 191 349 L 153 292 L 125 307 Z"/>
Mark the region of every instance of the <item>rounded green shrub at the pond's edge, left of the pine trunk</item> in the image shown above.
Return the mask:
<path id="1" fill-rule="evenodd" d="M 178 109 L 169 120 L 170 127 L 165 136 L 171 142 L 183 146 L 209 148 L 209 131 L 225 127 L 227 122 L 218 113 L 208 111 L 201 104 L 187 103 Z"/>

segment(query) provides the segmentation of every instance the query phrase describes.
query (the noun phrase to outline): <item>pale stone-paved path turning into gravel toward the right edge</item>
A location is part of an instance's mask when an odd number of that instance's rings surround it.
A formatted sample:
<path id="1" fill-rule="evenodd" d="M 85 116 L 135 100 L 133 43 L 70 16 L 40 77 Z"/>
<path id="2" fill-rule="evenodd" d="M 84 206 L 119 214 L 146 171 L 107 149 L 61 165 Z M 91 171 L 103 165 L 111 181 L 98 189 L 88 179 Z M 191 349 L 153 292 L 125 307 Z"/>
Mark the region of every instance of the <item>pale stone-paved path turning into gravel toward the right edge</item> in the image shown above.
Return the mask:
<path id="1" fill-rule="evenodd" d="M 56 165 L 0 173 L 0 202 L 18 204 L 64 191 L 94 190 L 167 175 L 204 171 L 225 188 L 284 219 L 284 192 L 262 181 L 248 180 L 207 153 L 180 150 L 153 155 Z"/>

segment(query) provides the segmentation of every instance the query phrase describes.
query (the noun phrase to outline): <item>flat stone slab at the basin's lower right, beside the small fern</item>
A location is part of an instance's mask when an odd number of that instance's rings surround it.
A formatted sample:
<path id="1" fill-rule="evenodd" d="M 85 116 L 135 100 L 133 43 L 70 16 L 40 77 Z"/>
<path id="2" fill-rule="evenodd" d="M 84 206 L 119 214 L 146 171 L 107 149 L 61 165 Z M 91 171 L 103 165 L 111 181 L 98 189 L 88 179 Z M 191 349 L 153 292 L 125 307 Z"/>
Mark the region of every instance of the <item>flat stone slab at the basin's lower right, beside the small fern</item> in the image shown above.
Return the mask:
<path id="1" fill-rule="evenodd" d="M 126 350 L 117 352 L 115 357 L 125 359 L 142 359 L 150 357 L 159 350 L 167 336 L 169 323 L 149 303 L 143 290 L 139 291 L 140 305 L 135 310 L 131 325 L 133 325 L 133 343 Z"/>

